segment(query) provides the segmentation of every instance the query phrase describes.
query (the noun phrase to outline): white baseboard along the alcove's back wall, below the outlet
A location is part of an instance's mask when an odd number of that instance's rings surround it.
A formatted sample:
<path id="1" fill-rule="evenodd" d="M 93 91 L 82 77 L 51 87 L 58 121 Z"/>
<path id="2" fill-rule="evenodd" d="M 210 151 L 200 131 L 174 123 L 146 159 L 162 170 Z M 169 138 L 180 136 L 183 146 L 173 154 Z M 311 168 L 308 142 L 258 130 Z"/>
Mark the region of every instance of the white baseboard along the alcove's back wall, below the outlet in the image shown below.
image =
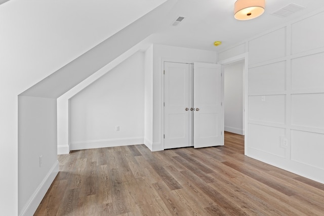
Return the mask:
<path id="1" fill-rule="evenodd" d="M 129 146 L 143 144 L 143 137 L 132 137 L 122 139 L 109 139 L 109 140 L 90 140 L 82 142 L 74 142 L 70 144 L 70 150 L 82 150 L 82 149 L 95 149 L 106 148 L 115 146 Z"/>

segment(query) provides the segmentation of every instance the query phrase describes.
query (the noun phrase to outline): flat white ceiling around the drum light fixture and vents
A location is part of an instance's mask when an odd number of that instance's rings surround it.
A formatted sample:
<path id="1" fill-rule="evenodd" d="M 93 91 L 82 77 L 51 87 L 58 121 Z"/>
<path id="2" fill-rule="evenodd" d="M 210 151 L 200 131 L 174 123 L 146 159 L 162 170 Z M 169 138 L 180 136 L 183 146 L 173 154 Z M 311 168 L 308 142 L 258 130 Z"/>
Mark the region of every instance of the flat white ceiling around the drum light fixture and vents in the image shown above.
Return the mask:
<path id="1" fill-rule="evenodd" d="M 324 7 L 322 0 L 266 0 L 263 15 L 253 20 L 239 21 L 235 20 L 233 16 L 235 1 L 179 1 L 174 10 L 185 19 L 178 26 L 172 26 L 170 23 L 168 29 L 152 35 L 149 41 L 157 44 L 217 51 Z M 305 9 L 286 18 L 271 15 L 291 3 L 303 6 Z M 221 40 L 222 45 L 215 47 L 213 43 L 216 40 Z"/>

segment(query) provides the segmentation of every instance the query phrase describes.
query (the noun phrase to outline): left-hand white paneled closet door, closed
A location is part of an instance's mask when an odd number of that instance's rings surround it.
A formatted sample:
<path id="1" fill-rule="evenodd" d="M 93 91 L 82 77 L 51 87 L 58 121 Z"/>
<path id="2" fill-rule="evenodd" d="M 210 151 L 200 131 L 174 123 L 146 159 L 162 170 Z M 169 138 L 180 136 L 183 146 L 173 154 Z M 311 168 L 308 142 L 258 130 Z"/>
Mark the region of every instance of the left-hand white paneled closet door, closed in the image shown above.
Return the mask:
<path id="1" fill-rule="evenodd" d="M 165 149 L 187 147 L 192 143 L 192 68 L 190 64 L 165 62 Z"/>

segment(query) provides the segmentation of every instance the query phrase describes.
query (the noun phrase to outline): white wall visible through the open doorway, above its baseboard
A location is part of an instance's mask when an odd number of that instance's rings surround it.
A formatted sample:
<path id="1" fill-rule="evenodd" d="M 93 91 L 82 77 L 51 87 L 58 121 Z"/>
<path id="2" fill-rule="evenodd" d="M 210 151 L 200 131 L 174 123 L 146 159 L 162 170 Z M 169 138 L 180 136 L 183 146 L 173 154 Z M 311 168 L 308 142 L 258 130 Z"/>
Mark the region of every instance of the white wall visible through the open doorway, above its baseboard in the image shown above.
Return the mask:
<path id="1" fill-rule="evenodd" d="M 224 67 L 224 129 L 243 135 L 243 69 L 244 61 Z"/>

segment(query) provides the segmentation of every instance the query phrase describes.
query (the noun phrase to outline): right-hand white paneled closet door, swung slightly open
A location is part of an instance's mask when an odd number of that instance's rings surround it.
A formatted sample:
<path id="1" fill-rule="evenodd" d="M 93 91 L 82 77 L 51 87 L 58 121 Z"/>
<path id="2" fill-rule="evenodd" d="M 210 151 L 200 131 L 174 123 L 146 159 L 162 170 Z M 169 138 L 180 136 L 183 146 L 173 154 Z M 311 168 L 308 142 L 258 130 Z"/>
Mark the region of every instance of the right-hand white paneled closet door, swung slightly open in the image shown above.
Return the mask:
<path id="1" fill-rule="evenodd" d="M 224 145 L 221 65 L 194 63 L 194 148 Z"/>

